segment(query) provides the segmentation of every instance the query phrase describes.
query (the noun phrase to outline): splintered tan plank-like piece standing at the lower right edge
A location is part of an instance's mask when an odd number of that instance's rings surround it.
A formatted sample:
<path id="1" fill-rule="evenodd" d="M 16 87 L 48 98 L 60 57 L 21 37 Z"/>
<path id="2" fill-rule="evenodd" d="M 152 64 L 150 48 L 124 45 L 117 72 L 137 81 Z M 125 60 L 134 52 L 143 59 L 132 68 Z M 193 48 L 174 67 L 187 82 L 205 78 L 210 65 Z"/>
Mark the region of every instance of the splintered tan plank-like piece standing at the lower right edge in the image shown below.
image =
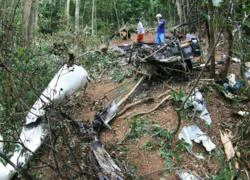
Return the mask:
<path id="1" fill-rule="evenodd" d="M 229 139 L 229 135 L 226 132 L 221 132 L 220 131 L 220 137 L 221 137 L 221 142 L 222 142 L 222 144 L 224 146 L 224 150 L 225 150 L 227 160 L 229 161 L 235 155 L 235 151 L 234 151 L 232 142 Z"/>

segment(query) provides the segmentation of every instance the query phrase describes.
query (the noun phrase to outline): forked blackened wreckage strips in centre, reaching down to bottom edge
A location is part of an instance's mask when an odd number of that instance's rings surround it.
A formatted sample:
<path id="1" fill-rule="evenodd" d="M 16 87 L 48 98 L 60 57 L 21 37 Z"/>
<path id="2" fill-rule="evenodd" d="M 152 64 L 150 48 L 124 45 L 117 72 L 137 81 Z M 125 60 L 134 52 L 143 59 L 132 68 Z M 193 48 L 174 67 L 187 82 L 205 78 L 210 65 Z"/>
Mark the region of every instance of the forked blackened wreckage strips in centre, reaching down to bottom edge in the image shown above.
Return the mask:
<path id="1" fill-rule="evenodd" d="M 99 179 L 123 179 L 122 170 L 115 164 L 111 156 L 104 149 L 101 144 L 98 133 L 103 129 L 103 127 L 111 129 L 108 124 L 113 118 L 116 117 L 119 107 L 124 104 L 130 95 L 137 89 L 137 87 L 143 82 L 145 77 L 141 77 L 132 90 L 126 94 L 118 103 L 113 101 L 108 107 L 104 108 L 101 112 L 95 114 L 91 125 L 85 125 L 82 122 L 76 122 L 73 118 L 69 117 L 65 113 L 61 112 L 65 117 L 75 122 L 74 124 L 78 127 L 79 131 L 83 136 L 88 136 L 92 139 L 90 148 L 101 168 L 101 172 L 98 173 Z"/>

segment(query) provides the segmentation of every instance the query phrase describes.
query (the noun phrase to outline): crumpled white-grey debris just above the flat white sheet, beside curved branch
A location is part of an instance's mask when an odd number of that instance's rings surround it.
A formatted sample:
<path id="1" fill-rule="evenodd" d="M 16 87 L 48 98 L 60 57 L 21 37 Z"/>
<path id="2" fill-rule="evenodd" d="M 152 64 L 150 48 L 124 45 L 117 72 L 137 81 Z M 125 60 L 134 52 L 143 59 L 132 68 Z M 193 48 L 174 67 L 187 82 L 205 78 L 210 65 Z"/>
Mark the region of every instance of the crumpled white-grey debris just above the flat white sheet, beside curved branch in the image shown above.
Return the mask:
<path id="1" fill-rule="evenodd" d="M 194 91 L 193 95 L 189 98 L 189 101 L 192 102 L 194 109 L 199 113 L 199 118 L 204 120 L 208 125 L 211 125 L 212 120 L 210 114 L 206 108 L 203 96 L 198 89 Z"/>

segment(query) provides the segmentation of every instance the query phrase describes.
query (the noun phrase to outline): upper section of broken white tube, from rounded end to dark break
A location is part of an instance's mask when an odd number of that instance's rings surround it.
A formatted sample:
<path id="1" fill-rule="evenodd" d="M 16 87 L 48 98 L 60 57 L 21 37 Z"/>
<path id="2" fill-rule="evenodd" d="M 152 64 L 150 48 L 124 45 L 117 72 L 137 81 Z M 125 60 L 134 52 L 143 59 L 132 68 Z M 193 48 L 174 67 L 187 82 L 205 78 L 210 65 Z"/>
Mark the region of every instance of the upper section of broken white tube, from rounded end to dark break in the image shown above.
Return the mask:
<path id="1" fill-rule="evenodd" d="M 77 65 L 68 67 L 65 64 L 50 81 L 48 87 L 43 91 L 39 99 L 30 109 L 26 116 L 26 125 L 34 123 L 37 117 L 45 114 L 45 107 L 53 103 L 59 103 L 67 96 L 75 93 L 81 87 L 87 85 L 87 71 Z"/>

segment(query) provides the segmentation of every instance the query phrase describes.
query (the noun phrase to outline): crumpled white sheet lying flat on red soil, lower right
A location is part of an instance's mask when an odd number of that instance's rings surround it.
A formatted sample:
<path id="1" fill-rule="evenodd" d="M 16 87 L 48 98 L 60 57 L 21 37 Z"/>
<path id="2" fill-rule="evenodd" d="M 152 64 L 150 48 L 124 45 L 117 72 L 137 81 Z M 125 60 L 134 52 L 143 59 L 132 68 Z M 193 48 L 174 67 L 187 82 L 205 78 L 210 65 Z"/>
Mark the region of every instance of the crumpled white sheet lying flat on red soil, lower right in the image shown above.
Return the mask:
<path id="1" fill-rule="evenodd" d="M 189 146 L 186 147 L 188 152 L 195 155 L 198 159 L 203 159 L 204 157 L 198 154 L 194 154 L 192 152 L 192 146 L 193 146 L 192 141 L 196 143 L 202 143 L 202 145 L 208 152 L 211 152 L 216 148 L 216 145 L 204 132 L 200 130 L 200 128 L 197 125 L 184 126 L 181 132 L 179 133 L 178 138 L 180 140 L 183 139 L 186 143 L 189 144 Z"/>

